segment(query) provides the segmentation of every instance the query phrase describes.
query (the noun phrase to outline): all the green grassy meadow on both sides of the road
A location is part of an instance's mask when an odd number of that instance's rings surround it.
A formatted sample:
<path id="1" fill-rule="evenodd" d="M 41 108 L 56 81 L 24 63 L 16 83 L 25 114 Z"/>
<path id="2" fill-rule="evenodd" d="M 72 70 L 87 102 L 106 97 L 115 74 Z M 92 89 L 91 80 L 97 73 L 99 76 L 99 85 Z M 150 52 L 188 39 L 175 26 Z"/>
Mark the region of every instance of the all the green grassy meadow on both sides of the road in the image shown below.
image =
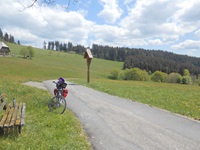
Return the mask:
<path id="1" fill-rule="evenodd" d="M 0 149 L 91 149 L 87 134 L 76 116 L 67 110 L 63 115 L 48 112 L 48 91 L 28 87 L 27 81 L 44 81 L 64 77 L 78 83 L 132 101 L 148 104 L 200 120 L 200 86 L 108 79 L 122 62 L 92 59 L 90 83 L 82 55 L 34 48 L 35 55 L 23 59 L 21 45 L 6 43 L 13 56 L 0 57 L 0 92 L 8 103 L 15 98 L 26 103 L 25 126 L 20 135 L 0 136 Z M 2 113 L 2 112 L 1 112 Z"/>

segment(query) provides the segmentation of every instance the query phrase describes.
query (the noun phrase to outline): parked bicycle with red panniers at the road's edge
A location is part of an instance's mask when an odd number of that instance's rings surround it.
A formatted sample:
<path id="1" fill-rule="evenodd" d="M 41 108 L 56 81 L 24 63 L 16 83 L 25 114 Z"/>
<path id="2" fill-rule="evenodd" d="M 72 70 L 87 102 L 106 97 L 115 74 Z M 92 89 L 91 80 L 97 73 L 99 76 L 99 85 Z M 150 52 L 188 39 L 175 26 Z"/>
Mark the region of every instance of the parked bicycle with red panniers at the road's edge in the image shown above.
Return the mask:
<path id="1" fill-rule="evenodd" d="M 68 95 L 68 90 L 66 89 L 67 83 L 61 84 L 55 81 L 53 81 L 53 83 L 56 84 L 56 88 L 54 89 L 55 96 L 49 101 L 48 107 L 50 112 L 62 114 L 67 107 L 67 102 L 65 99 Z"/>

